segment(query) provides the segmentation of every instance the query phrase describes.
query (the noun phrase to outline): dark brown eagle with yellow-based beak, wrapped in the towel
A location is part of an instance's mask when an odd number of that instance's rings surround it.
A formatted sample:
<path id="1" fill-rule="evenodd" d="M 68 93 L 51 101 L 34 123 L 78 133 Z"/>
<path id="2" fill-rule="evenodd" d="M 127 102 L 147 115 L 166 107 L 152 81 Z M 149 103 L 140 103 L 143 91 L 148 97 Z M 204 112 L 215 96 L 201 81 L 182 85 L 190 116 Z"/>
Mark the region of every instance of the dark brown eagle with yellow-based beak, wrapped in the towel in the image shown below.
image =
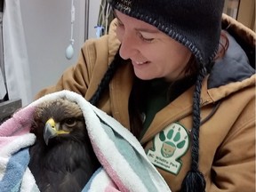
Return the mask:
<path id="1" fill-rule="evenodd" d="M 60 98 L 38 105 L 31 132 L 36 142 L 28 167 L 40 191 L 81 191 L 100 167 L 75 102 Z"/>

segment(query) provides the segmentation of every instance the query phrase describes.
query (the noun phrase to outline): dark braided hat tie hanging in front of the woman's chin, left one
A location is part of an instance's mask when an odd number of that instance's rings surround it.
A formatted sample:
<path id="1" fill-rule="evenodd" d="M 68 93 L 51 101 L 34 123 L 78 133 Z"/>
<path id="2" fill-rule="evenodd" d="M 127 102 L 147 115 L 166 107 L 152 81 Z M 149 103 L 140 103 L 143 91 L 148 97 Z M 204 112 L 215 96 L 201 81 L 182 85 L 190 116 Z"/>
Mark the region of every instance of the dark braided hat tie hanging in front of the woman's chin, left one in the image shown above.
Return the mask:
<path id="1" fill-rule="evenodd" d="M 117 51 L 114 60 L 108 66 L 108 70 L 106 71 L 105 75 L 101 79 L 97 91 L 94 92 L 91 100 L 89 100 L 89 102 L 92 103 L 92 105 L 96 106 L 98 104 L 98 102 L 100 100 L 100 96 L 108 87 L 109 82 L 111 81 L 112 77 L 116 73 L 116 69 L 118 68 L 118 66 L 121 65 L 121 63 L 123 63 L 122 60 L 123 59 L 120 57 L 119 51 Z"/>

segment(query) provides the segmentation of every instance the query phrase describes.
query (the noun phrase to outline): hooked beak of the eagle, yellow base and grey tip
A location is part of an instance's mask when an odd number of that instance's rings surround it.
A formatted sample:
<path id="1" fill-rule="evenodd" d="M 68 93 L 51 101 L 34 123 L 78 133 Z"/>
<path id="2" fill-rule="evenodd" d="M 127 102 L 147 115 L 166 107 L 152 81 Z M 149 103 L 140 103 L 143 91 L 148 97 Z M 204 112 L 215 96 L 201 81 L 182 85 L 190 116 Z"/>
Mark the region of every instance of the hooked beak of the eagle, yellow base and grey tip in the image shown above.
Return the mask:
<path id="1" fill-rule="evenodd" d="M 69 132 L 59 130 L 59 124 L 56 124 L 53 118 L 50 118 L 44 126 L 44 142 L 48 145 L 49 140 L 60 135 L 68 134 Z"/>

